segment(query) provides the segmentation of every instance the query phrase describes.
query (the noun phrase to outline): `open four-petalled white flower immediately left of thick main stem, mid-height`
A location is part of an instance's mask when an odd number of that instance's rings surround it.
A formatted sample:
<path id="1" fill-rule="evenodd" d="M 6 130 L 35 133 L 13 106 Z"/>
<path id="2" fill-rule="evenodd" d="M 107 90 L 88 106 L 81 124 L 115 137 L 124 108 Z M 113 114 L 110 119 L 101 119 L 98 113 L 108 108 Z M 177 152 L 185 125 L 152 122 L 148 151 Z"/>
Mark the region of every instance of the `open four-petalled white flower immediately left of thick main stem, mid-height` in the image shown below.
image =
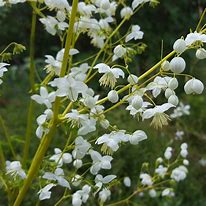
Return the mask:
<path id="1" fill-rule="evenodd" d="M 48 93 L 45 87 L 40 88 L 40 95 L 34 94 L 31 98 L 38 104 L 45 104 L 47 108 L 52 107 L 52 102 L 55 100 L 55 92 Z"/>

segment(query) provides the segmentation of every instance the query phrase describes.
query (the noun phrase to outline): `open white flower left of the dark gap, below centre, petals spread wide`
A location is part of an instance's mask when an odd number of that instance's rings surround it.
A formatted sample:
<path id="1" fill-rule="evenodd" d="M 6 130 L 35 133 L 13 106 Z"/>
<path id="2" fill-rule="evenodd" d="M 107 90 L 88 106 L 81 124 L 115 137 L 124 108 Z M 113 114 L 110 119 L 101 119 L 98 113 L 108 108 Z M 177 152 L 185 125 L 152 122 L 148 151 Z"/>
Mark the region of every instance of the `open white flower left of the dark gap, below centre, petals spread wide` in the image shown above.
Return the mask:
<path id="1" fill-rule="evenodd" d="M 111 156 L 102 156 L 99 152 L 91 150 L 90 155 L 92 158 L 92 166 L 90 168 L 90 172 L 93 175 L 96 175 L 100 169 L 111 169 L 111 161 L 113 158 Z"/>

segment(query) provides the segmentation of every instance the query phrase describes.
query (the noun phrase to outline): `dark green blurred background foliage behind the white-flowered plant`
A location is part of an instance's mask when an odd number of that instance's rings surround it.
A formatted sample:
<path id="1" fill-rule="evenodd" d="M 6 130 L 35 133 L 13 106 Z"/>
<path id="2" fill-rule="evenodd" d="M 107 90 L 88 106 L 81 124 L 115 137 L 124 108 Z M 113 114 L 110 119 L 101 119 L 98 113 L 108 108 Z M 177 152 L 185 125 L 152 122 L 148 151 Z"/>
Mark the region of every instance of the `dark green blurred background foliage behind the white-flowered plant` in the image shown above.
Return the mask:
<path id="1" fill-rule="evenodd" d="M 133 64 L 130 65 L 133 73 L 139 75 L 154 65 L 161 57 L 161 45 L 163 41 L 164 55 L 172 50 L 173 42 L 186 35 L 190 29 L 196 28 L 201 12 L 206 5 L 205 0 L 163 0 L 155 9 L 145 6 L 131 20 L 131 24 L 139 24 L 144 31 L 143 42 L 148 45 L 145 52 L 137 55 Z M 126 27 L 127 25 L 125 25 Z M 26 4 L 14 5 L 11 8 L 0 8 L 0 51 L 10 42 L 23 44 L 26 48 L 29 45 L 31 27 L 31 8 Z M 124 29 L 124 28 L 123 28 Z M 81 37 L 80 43 L 76 46 L 82 53 L 93 53 L 94 48 Z M 38 78 L 44 76 L 44 56 L 47 54 L 56 55 L 60 49 L 59 40 L 44 31 L 43 25 L 38 22 L 36 34 L 36 75 Z M 80 56 L 79 58 L 84 58 Z M 206 63 L 197 61 L 194 52 L 188 52 L 185 56 L 187 70 L 203 83 L 206 83 Z M 5 119 L 8 133 L 14 145 L 23 145 L 27 108 L 29 102 L 28 82 L 28 49 L 21 55 L 16 56 L 9 72 L 4 75 L 4 83 L 0 89 L 0 114 Z M 182 85 L 184 80 L 182 80 Z M 107 91 L 101 90 L 98 84 L 96 87 L 102 96 Z M 108 117 L 118 128 L 133 132 L 137 129 L 148 131 L 148 140 L 138 146 L 123 146 L 116 154 L 118 157 L 114 162 L 114 173 L 118 176 L 129 176 L 136 180 L 143 162 L 152 163 L 163 155 L 168 145 L 178 148 L 182 142 L 189 144 L 189 174 L 185 181 L 177 186 L 176 198 L 151 199 L 145 195 L 137 200 L 137 205 L 147 206 L 206 206 L 206 95 L 205 91 L 200 96 L 186 96 L 180 89 L 179 96 L 184 104 L 191 105 L 190 115 L 183 116 L 172 121 L 171 126 L 165 127 L 161 132 L 148 129 L 148 125 L 133 119 L 129 112 L 118 108 Z M 35 113 L 38 116 L 42 108 L 36 106 Z M 175 138 L 177 130 L 183 130 L 182 139 Z M 34 124 L 35 131 L 35 124 Z M 0 141 L 3 142 L 3 134 L 0 129 Z M 31 157 L 37 148 L 39 140 L 33 135 Z M 15 144 L 18 143 L 18 144 Z M 58 144 L 58 143 L 57 143 Z M 21 154 L 21 147 L 15 148 Z M 125 155 L 126 154 L 126 155 Z M 7 156 L 9 158 L 9 154 Z M 123 158 L 124 157 L 124 158 Z M 151 164 L 151 167 L 154 165 Z M 122 191 L 126 196 L 131 191 Z M 0 205 L 2 194 L 0 193 Z M 140 201 L 140 202 L 138 202 Z M 32 204 L 31 204 L 32 205 Z"/>

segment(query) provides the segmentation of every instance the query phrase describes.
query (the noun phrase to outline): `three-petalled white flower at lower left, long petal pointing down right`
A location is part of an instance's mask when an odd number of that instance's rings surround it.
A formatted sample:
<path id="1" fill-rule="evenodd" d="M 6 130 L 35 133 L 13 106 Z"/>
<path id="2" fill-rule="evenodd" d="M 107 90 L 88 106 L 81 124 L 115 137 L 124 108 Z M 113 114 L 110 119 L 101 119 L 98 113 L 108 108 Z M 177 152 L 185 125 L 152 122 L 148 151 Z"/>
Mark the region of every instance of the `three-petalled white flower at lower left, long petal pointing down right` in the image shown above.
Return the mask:
<path id="1" fill-rule="evenodd" d="M 71 189 L 69 182 L 64 178 L 64 171 L 61 168 L 57 168 L 54 173 L 45 172 L 42 177 L 47 180 L 57 181 L 58 185 Z"/>

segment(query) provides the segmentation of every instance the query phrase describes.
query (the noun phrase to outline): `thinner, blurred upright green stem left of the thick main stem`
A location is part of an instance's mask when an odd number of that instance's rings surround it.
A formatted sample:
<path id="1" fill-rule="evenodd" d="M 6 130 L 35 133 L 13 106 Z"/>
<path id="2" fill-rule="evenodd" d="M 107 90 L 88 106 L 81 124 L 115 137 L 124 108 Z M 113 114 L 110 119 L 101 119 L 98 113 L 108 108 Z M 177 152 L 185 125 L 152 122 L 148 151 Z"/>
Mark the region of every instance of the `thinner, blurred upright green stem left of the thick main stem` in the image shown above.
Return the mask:
<path id="1" fill-rule="evenodd" d="M 33 4 L 33 8 L 36 7 L 36 2 L 32 2 L 32 4 Z M 29 54 L 29 57 L 30 57 L 29 81 L 30 81 L 31 93 L 34 93 L 34 90 L 35 90 L 34 54 L 35 54 L 36 22 L 37 22 L 37 15 L 33 9 L 31 35 L 30 35 L 30 51 L 29 51 L 30 52 L 30 54 Z M 31 99 L 30 103 L 29 103 L 29 110 L 28 110 L 28 116 L 27 116 L 27 128 L 26 128 L 25 144 L 24 144 L 24 151 L 23 151 L 23 161 L 22 161 L 23 166 L 26 164 L 27 157 L 29 154 L 33 119 L 34 119 L 34 101 Z"/>

